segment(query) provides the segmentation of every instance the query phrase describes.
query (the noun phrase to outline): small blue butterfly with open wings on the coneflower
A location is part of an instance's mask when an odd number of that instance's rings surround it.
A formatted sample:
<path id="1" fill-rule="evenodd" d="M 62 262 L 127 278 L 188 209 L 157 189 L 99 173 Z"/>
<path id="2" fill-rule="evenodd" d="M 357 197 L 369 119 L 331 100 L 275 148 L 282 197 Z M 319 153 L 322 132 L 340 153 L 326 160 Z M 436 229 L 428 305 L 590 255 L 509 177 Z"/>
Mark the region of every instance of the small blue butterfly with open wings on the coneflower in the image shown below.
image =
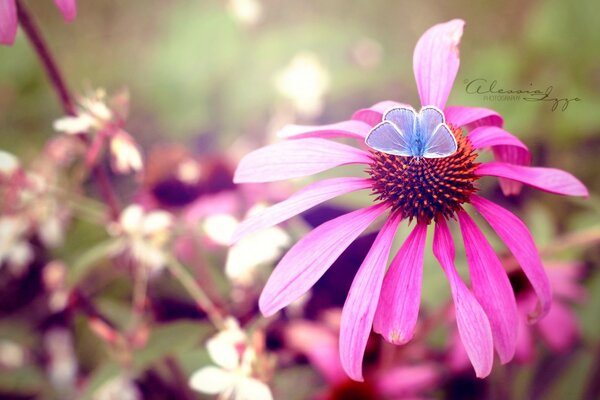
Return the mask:
<path id="1" fill-rule="evenodd" d="M 383 115 L 365 138 L 370 148 L 387 154 L 416 158 L 442 158 L 454 154 L 456 138 L 439 108 L 394 107 Z"/>

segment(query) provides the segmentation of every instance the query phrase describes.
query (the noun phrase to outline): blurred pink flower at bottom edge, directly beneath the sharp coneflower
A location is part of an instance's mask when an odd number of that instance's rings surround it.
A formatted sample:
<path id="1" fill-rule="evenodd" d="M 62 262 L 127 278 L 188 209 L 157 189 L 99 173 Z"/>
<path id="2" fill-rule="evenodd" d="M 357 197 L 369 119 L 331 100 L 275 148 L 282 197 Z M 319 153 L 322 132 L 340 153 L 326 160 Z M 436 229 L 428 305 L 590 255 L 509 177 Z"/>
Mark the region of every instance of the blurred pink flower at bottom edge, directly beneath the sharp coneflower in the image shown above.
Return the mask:
<path id="1" fill-rule="evenodd" d="M 415 364 L 407 360 L 372 371 L 367 382 L 348 379 L 340 363 L 340 315 L 335 313 L 330 317 L 324 322 L 292 321 L 285 331 L 285 341 L 290 349 L 305 355 L 327 383 L 328 388 L 318 393 L 317 399 L 416 399 L 435 390 L 441 382 L 441 372 L 434 363 Z M 331 324 L 334 318 L 337 326 Z"/>

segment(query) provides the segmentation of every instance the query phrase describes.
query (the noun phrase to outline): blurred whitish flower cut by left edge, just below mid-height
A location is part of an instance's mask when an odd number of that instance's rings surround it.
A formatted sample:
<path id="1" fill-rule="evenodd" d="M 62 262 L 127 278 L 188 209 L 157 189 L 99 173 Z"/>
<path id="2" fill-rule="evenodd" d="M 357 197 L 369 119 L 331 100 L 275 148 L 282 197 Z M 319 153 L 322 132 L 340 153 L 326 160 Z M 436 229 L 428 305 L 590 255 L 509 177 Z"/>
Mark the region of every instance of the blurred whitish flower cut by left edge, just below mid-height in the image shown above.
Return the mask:
<path id="1" fill-rule="evenodd" d="M 33 248 L 28 241 L 29 224 L 13 216 L 0 217 L 0 265 L 22 270 L 33 260 Z"/>

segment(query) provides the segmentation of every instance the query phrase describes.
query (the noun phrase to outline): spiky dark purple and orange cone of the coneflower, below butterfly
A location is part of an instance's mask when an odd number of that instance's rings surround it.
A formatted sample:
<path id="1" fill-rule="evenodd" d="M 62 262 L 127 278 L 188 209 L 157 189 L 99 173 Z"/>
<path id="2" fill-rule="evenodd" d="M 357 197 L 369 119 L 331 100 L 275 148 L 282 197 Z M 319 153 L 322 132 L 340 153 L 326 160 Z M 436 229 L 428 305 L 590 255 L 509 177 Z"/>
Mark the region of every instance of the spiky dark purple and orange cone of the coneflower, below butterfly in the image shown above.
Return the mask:
<path id="1" fill-rule="evenodd" d="M 451 127 L 458 149 L 443 158 L 402 157 L 371 151 L 373 162 L 367 172 L 373 180 L 377 201 L 385 201 L 392 212 L 429 224 L 451 218 L 477 191 L 479 179 L 474 152 L 461 129 Z"/>

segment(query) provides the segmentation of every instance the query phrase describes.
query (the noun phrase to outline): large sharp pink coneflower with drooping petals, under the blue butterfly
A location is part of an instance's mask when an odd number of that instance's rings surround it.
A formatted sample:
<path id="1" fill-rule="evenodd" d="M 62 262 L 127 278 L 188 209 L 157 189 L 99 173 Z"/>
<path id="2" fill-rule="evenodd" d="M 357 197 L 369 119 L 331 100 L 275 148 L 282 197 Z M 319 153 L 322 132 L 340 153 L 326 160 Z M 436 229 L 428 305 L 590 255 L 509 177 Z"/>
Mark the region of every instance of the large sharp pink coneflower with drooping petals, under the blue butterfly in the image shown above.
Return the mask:
<path id="1" fill-rule="evenodd" d="M 342 314 L 340 356 L 344 370 L 355 380 L 362 380 L 362 358 L 372 326 L 394 344 L 406 343 L 414 334 L 425 239 L 432 223 L 433 252 L 448 277 L 458 331 L 477 376 L 490 373 L 494 348 L 502 363 L 510 361 L 517 339 L 515 296 L 498 256 L 464 205 L 471 204 L 487 220 L 520 263 L 538 299 L 536 309 L 531 310 L 535 319 L 549 311 L 552 295 L 533 238 L 518 217 L 475 194 L 477 181 L 484 176 L 504 179 L 501 185 L 507 194 L 518 193 L 522 183 L 556 194 L 588 194 L 567 172 L 527 166 L 527 147 L 502 128 L 503 120 L 496 112 L 446 107 L 458 71 L 463 26 L 464 21 L 452 20 L 430 28 L 419 39 L 413 60 L 421 104 L 443 110 L 439 112 L 441 123 L 448 128 L 446 134 L 455 139 L 452 154 L 439 158 L 396 156 L 328 140 L 343 137 L 364 143 L 382 122 L 385 111 L 404 106 L 388 101 L 356 112 L 349 121 L 284 129 L 283 136 L 289 140 L 248 154 L 235 174 L 237 183 L 271 182 L 341 165 L 366 166 L 366 177 L 334 178 L 309 185 L 249 218 L 234 236 L 240 238 L 278 224 L 345 193 L 371 190 L 375 195 L 372 205 L 328 221 L 296 243 L 273 271 L 259 301 L 262 313 L 269 316 L 299 298 L 352 241 L 386 214 L 387 221 L 354 278 Z M 496 161 L 475 162 L 482 149 L 491 149 Z M 393 238 L 404 218 L 416 224 L 386 272 Z M 454 242 L 448 225 L 457 222 L 472 292 L 454 266 Z"/>

